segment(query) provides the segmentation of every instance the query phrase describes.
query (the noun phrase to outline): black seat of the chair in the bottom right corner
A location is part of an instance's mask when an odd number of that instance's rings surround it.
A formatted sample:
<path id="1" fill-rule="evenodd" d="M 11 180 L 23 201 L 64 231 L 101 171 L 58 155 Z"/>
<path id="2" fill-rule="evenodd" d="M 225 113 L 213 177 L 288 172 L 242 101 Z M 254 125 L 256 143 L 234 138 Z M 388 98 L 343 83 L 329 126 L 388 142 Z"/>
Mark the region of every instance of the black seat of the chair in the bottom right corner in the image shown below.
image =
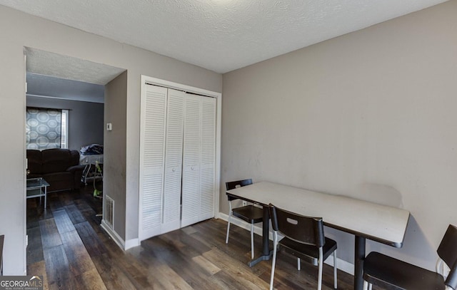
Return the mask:
<path id="1" fill-rule="evenodd" d="M 378 252 L 363 262 L 363 279 L 385 289 L 445 289 L 443 276 Z"/>

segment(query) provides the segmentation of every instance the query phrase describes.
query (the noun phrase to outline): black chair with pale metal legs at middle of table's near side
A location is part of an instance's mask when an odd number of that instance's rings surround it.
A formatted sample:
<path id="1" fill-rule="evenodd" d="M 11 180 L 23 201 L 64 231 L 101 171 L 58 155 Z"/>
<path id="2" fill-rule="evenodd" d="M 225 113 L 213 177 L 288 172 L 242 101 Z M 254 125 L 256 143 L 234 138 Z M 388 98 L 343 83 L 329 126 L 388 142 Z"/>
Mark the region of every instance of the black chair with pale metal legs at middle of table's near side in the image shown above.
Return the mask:
<path id="1" fill-rule="evenodd" d="M 322 266 L 333 253 L 333 286 L 336 289 L 336 242 L 323 234 L 321 217 L 305 217 L 270 205 L 271 226 L 273 227 L 273 262 L 271 264 L 270 290 L 273 289 L 274 268 L 278 244 L 284 252 L 298 259 L 304 259 L 318 266 L 317 289 L 322 289 Z M 278 233 L 284 236 L 278 241 Z M 298 260 L 300 263 L 300 260 Z"/>

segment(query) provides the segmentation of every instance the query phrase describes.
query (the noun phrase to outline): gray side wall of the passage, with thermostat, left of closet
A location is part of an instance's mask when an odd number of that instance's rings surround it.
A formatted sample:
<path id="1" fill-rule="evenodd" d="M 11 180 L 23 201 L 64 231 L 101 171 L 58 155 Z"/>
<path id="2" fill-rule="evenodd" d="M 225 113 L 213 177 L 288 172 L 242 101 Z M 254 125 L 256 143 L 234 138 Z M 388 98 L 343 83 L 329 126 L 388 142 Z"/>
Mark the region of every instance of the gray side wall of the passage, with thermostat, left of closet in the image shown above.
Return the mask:
<path id="1" fill-rule="evenodd" d="M 104 172 L 112 172 L 104 177 L 104 195 L 114 202 L 114 231 L 119 236 L 126 236 L 126 113 L 127 113 L 127 72 L 109 82 L 105 86 L 105 123 L 112 124 L 112 130 L 105 130 L 106 154 L 104 156 Z"/>

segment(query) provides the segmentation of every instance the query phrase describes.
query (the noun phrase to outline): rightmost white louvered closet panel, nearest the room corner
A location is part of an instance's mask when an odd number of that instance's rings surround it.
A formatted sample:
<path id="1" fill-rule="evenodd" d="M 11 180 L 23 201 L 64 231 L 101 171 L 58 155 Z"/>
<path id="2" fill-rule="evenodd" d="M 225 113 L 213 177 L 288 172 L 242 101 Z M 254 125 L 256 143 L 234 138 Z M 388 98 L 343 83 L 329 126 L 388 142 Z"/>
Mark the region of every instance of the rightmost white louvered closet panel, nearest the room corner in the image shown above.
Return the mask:
<path id="1" fill-rule="evenodd" d="M 216 182 L 216 98 L 201 98 L 200 216 L 214 217 Z"/>

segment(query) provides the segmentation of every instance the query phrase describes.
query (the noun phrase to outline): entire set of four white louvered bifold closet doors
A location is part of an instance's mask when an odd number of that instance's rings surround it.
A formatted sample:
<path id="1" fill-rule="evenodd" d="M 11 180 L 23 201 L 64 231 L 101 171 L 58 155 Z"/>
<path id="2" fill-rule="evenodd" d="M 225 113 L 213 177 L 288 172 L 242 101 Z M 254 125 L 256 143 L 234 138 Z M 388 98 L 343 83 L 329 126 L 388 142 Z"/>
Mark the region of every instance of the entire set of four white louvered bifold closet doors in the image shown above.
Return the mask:
<path id="1" fill-rule="evenodd" d="M 216 98 L 144 85 L 140 240 L 214 217 Z"/>

